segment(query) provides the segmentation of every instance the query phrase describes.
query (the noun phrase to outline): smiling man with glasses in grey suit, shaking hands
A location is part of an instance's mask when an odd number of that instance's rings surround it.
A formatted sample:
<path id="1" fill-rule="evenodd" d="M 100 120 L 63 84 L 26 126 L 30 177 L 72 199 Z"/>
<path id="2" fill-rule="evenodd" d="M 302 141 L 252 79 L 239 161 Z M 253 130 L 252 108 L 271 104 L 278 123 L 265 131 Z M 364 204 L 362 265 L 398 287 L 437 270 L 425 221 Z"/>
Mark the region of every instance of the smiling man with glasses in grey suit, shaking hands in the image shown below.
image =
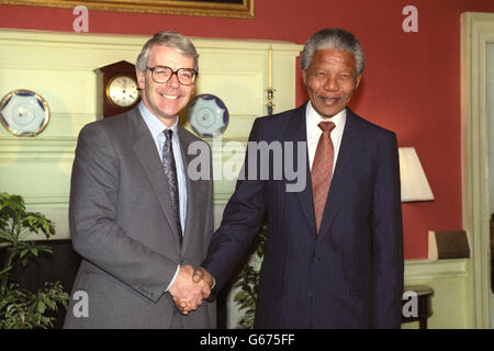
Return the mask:
<path id="1" fill-rule="evenodd" d="M 211 154 L 178 125 L 194 91 L 198 57 L 186 36 L 156 34 L 136 63 L 142 102 L 79 134 L 69 220 L 82 263 L 66 328 L 216 325 L 215 304 L 202 304 L 209 287 L 192 281 L 213 233 L 212 170 L 209 179 L 188 177 L 189 146 Z M 182 316 L 172 297 L 202 306 Z"/>

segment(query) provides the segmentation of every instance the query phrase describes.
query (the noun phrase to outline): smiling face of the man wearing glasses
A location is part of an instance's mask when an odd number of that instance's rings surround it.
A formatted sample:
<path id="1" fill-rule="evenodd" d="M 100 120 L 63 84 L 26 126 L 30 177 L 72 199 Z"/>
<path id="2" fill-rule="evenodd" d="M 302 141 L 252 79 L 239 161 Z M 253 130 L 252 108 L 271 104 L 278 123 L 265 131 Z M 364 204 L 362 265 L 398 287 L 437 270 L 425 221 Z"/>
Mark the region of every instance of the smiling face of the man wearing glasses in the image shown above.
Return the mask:
<path id="1" fill-rule="evenodd" d="M 150 48 L 147 67 L 168 66 L 176 71 L 179 68 L 194 68 L 193 57 L 186 56 L 175 49 L 154 45 Z M 137 72 L 137 82 L 143 90 L 143 102 L 165 125 L 172 126 L 179 112 L 187 105 L 194 92 L 195 84 L 182 86 L 177 75 L 172 75 L 165 83 L 153 81 L 151 71 Z"/>

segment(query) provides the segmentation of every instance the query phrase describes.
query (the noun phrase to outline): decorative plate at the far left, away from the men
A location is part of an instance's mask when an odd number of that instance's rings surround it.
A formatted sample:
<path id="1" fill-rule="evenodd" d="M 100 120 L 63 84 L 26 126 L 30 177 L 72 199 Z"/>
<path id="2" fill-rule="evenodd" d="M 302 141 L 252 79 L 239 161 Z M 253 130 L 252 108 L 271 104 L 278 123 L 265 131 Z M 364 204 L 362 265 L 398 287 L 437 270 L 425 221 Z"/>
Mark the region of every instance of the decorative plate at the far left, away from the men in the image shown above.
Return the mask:
<path id="1" fill-rule="evenodd" d="M 16 89 L 0 102 L 0 120 L 15 136 L 35 136 L 49 122 L 49 107 L 45 99 L 26 89 Z"/>

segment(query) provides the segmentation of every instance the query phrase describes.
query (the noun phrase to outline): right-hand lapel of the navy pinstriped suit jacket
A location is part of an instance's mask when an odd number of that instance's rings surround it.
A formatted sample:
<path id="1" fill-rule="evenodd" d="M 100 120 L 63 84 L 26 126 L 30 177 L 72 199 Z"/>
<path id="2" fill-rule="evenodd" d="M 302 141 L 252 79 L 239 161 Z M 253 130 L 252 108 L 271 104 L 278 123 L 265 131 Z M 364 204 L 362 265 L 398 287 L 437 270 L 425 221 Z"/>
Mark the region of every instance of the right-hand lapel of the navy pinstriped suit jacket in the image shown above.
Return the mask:
<path id="1" fill-rule="evenodd" d="M 333 220 L 344 207 L 347 188 L 352 184 L 350 179 L 356 170 L 356 161 L 360 156 L 360 139 L 357 124 L 357 116 L 347 107 L 347 121 L 339 146 L 338 159 L 336 160 L 335 172 L 329 188 L 323 220 L 319 228 L 319 237 L 327 234 Z"/>

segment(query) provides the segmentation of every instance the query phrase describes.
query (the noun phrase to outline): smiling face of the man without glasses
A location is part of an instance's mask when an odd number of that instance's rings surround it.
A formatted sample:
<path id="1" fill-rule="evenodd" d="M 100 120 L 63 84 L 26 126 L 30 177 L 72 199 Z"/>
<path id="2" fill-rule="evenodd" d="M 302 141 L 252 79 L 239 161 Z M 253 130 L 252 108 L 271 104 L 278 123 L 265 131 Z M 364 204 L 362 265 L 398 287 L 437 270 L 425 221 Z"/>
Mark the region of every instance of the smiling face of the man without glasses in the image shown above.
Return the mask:
<path id="1" fill-rule="evenodd" d="M 357 75 L 351 54 L 330 48 L 314 52 L 311 65 L 302 75 L 311 103 L 323 118 L 345 109 L 361 77 Z"/>

